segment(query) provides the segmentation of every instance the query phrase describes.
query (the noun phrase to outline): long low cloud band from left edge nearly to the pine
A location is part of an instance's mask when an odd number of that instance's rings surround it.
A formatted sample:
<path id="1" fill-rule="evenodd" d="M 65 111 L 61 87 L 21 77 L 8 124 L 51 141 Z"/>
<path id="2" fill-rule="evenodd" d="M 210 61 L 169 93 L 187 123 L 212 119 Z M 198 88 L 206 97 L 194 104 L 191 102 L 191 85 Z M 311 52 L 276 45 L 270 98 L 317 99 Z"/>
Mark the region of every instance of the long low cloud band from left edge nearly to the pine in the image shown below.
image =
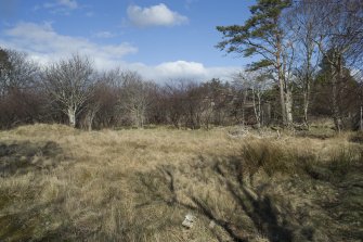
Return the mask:
<path id="1" fill-rule="evenodd" d="M 120 44 L 98 44 L 87 38 L 57 34 L 51 23 L 18 23 L 0 36 L 0 46 L 25 51 L 42 65 L 67 58 L 78 52 L 87 54 L 99 69 L 121 67 L 139 72 L 145 79 L 165 82 L 170 79 L 208 80 L 213 77 L 230 79 L 238 67 L 206 67 L 198 62 L 174 61 L 158 65 L 128 63 L 125 55 L 138 52 L 138 48 L 128 42 Z"/>

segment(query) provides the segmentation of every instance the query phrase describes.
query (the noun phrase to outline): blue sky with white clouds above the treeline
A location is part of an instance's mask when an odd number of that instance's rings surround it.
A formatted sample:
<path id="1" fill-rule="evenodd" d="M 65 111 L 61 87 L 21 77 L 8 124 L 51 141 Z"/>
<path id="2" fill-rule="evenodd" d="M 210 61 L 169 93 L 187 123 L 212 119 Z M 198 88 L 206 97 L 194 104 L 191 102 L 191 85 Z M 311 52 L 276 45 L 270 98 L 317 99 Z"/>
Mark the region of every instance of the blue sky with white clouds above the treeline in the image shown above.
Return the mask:
<path id="1" fill-rule="evenodd" d="M 145 79 L 229 79 L 249 60 L 215 48 L 255 0 L 0 0 L 0 47 L 41 65 L 73 53 Z"/>

